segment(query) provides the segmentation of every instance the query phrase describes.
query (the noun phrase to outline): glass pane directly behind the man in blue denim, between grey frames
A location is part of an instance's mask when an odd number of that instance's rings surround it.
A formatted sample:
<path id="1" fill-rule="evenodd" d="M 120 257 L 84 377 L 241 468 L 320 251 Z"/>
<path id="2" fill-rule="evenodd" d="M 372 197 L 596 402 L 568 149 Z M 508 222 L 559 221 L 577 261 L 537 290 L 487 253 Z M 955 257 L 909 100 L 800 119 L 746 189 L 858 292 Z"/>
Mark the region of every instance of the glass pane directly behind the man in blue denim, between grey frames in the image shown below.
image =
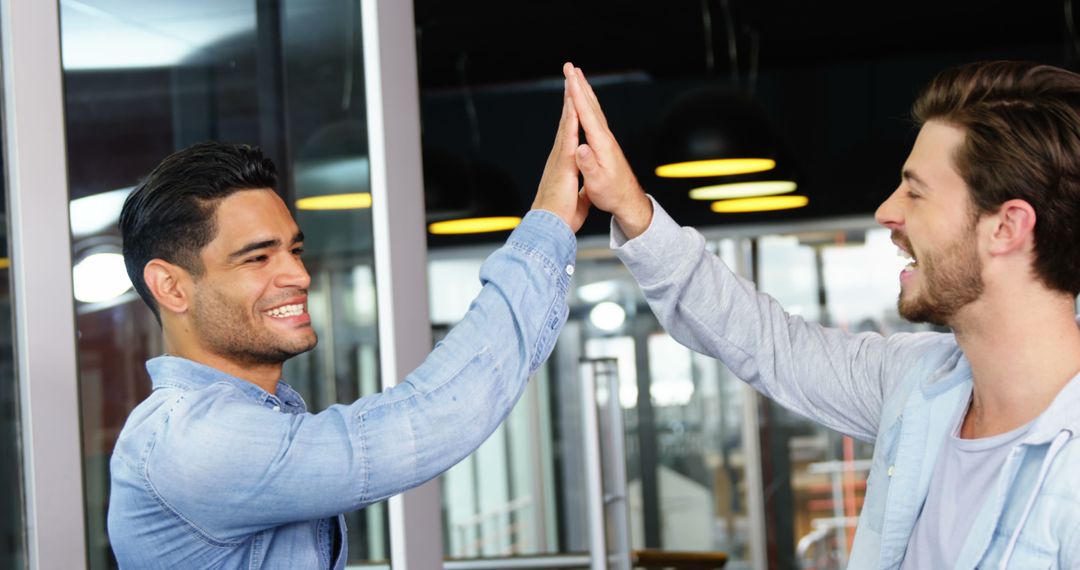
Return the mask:
<path id="1" fill-rule="evenodd" d="M 380 385 L 360 6 L 62 0 L 60 26 L 89 559 L 112 568 L 108 460 L 149 392 L 144 363 L 162 340 L 125 284 L 107 281 L 108 263 L 120 252 L 124 196 L 162 158 L 206 139 L 246 142 L 273 159 L 289 204 L 367 196 L 350 207 L 296 208 L 321 342 L 286 364 L 284 380 L 311 411 Z M 350 561 L 389 557 L 386 524 L 384 505 L 348 515 Z"/>

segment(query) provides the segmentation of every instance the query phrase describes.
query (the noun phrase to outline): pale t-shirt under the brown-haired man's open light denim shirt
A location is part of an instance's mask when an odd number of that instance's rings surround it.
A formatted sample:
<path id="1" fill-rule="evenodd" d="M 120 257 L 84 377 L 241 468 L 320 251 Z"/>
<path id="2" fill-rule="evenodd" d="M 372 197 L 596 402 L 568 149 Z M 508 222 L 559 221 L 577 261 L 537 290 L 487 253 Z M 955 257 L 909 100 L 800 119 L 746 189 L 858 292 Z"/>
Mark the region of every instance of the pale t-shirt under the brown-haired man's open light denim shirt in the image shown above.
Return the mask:
<path id="1" fill-rule="evenodd" d="M 969 403 L 970 406 L 970 403 Z M 922 513 L 907 541 L 901 570 L 953 568 L 1001 473 L 1009 451 L 1034 421 L 1000 435 L 961 439 L 960 425 L 969 406 L 961 406 L 945 438 L 930 479 Z"/>

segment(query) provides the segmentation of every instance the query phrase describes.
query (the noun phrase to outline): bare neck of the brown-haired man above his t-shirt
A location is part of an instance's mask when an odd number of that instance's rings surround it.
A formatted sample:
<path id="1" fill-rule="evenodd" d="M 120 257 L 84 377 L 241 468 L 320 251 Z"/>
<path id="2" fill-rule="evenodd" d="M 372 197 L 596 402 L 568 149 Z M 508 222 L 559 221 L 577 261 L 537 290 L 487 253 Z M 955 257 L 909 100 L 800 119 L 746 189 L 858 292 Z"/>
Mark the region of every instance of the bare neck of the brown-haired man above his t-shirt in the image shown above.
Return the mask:
<path id="1" fill-rule="evenodd" d="M 953 328 L 974 382 L 961 437 L 988 437 L 1034 420 L 1080 371 L 1074 303 L 1045 289 L 987 290 L 957 314 Z"/>

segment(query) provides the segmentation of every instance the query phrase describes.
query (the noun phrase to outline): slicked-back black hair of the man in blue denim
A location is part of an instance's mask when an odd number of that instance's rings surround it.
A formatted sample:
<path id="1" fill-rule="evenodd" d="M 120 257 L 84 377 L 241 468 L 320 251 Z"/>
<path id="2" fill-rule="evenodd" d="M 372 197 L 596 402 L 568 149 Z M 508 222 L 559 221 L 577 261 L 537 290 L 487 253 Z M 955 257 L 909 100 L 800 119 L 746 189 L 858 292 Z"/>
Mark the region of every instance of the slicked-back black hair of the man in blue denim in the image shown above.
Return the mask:
<path id="1" fill-rule="evenodd" d="M 240 190 L 276 184 L 273 162 L 258 148 L 207 141 L 166 157 L 127 195 L 120 212 L 124 264 L 159 323 L 158 303 L 143 279 L 147 262 L 164 259 L 202 275 L 199 252 L 217 234 L 218 203 Z"/>

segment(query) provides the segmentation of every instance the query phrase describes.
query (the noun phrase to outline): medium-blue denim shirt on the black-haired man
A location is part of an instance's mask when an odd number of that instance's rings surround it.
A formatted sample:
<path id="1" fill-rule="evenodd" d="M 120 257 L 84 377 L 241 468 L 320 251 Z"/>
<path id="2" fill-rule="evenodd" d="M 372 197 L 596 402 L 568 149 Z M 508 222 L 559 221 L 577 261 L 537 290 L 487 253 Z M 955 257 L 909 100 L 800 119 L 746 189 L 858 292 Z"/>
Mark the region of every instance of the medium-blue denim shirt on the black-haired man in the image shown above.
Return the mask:
<path id="1" fill-rule="evenodd" d="M 509 415 L 566 322 L 575 256 L 566 223 L 530 212 L 419 368 L 319 413 L 284 382 L 270 394 L 191 361 L 151 359 L 153 391 L 110 462 L 120 566 L 345 568 L 342 513 L 440 475 Z"/>

